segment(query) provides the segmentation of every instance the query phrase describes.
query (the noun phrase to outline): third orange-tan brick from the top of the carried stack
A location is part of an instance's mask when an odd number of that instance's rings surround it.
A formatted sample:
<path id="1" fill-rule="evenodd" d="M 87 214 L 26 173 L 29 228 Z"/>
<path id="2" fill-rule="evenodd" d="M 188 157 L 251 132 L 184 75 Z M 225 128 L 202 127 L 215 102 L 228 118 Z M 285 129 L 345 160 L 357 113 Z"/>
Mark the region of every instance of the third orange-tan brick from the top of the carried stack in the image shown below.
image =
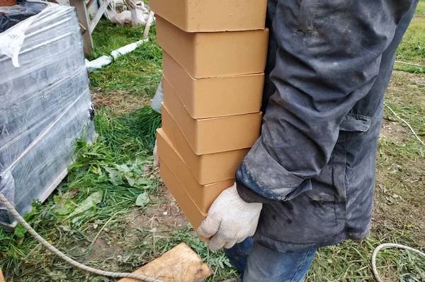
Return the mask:
<path id="1" fill-rule="evenodd" d="M 259 112 L 264 74 L 193 78 L 169 54 L 164 77 L 194 119 Z"/>

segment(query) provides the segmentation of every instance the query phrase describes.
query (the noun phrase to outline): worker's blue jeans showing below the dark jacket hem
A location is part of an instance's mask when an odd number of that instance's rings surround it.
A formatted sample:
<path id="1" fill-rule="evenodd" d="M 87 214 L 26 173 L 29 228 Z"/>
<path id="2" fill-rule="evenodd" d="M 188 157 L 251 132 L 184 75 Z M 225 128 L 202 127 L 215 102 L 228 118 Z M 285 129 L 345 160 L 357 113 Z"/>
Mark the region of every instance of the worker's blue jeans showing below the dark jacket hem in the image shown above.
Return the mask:
<path id="1" fill-rule="evenodd" d="M 230 263 L 242 274 L 244 282 L 301 282 L 312 264 L 316 249 L 280 253 L 263 247 L 248 237 L 224 249 Z"/>

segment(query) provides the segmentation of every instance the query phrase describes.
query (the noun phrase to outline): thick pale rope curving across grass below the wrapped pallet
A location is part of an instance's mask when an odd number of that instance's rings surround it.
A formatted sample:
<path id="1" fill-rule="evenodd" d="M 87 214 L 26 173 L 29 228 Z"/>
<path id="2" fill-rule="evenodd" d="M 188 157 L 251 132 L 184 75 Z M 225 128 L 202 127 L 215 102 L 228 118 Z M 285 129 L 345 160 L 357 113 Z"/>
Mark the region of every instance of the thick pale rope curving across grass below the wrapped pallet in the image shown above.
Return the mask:
<path id="1" fill-rule="evenodd" d="M 146 281 L 146 282 L 163 282 L 161 280 L 157 280 L 155 278 L 150 278 L 150 277 L 147 277 L 147 276 L 144 276 L 144 275 L 130 274 L 130 273 L 126 273 L 126 272 L 103 271 L 103 270 L 100 270 L 100 269 L 94 269 L 93 267 L 86 266 L 84 264 L 80 264 L 79 262 L 75 261 L 74 259 L 67 257 L 66 254 L 64 254 L 59 249 L 56 249 L 55 247 L 50 245 L 49 242 L 47 242 L 44 238 L 42 238 L 40 235 L 38 235 L 38 233 L 25 221 L 25 219 L 23 219 L 23 217 L 18 213 L 18 211 L 16 211 L 16 209 L 13 208 L 11 203 L 9 203 L 8 200 L 6 199 L 6 197 L 1 193 L 0 193 L 0 201 L 1 201 L 1 203 L 4 204 L 4 206 L 6 206 L 8 211 L 10 211 L 10 213 L 18 220 L 18 222 L 21 223 L 21 225 L 23 225 L 23 227 L 26 230 L 28 230 L 28 232 L 31 235 L 33 235 L 36 240 L 38 240 L 38 242 L 40 242 L 43 246 L 45 246 L 47 249 L 49 249 L 50 252 L 52 252 L 53 254 L 56 254 L 58 257 L 63 259 L 65 262 L 71 264 L 72 266 L 75 266 L 79 269 L 90 272 L 91 274 L 97 274 L 97 275 L 101 275 L 101 276 L 108 276 L 108 277 L 113 277 L 113 278 L 134 278 L 134 279 L 138 279 L 138 280 Z"/>

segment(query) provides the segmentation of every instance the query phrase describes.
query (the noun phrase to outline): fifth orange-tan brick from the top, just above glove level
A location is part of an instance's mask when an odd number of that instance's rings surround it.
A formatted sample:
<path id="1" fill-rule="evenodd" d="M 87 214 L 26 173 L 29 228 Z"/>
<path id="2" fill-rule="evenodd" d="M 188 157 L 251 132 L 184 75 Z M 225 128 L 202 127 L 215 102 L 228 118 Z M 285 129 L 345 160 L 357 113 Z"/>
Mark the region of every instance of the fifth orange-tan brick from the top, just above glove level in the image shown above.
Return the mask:
<path id="1" fill-rule="evenodd" d="M 249 148 L 246 148 L 196 155 L 166 107 L 162 109 L 162 129 L 200 184 L 233 179 L 237 168 L 249 152 Z"/>

